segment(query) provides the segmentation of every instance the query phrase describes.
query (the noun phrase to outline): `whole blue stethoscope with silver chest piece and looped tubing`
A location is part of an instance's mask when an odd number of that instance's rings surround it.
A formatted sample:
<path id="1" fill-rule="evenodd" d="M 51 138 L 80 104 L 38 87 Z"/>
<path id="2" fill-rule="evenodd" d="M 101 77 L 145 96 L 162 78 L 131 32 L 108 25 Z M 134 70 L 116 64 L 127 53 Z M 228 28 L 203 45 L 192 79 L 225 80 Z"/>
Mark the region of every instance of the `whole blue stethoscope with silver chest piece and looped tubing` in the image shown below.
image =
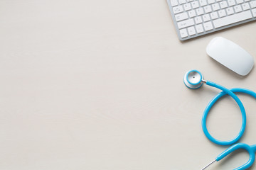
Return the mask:
<path id="1" fill-rule="evenodd" d="M 254 98 L 256 98 L 256 93 L 254 91 L 250 91 L 248 89 L 242 89 L 242 88 L 227 89 L 223 86 L 220 86 L 219 84 L 215 84 L 211 81 L 206 81 L 206 80 L 203 79 L 203 74 L 201 74 L 201 72 L 198 72 L 197 70 L 191 70 L 191 71 L 186 72 L 185 77 L 184 77 L 184 84 L 189 89 L 198 89 L 204 83 L 207 84 L 208 86 L 213 86 L 217 89 L 220 89 L 222 92 L 220 92 L 220 94 L 217 94 L 210 101 L 210 103 L 208 103 L 208 106 L 206 106 L 206 109 L 203 112 L 203 118 L 202 118 L 203 132 L 205 133 L 206 137 L 208 137 L 208 139 L 211 142 L 213 142 L 215 144 L 218 144 L 218 145 L 232 145 L 235 142 L 238 142 L 238 140 L 240 140 L 243 133 L 245 132 L 246 114 L 245 114 L 245 108 L 242 105 L 242 102 L 240 101 L 238 96 L 236 96 L 234 93 L 245 93 L 245 94 L 249 94 L 250 96 L 253 96 Z M 238 106 L 239 106 L 240 111 L 242 113 L 242 127 L 241 127 L 240 132 L 238 133 L 238 135 L 235 138 L 233 138 L 233 140 L 222 141 L 222 140 L 217 140 L 212 135 L 210 135 L 210 133 L 208 132 L 207 127 L 206 127 L 206 118 L 207 118 L 208 112 L 210 111 L 210 108 L 212 108 L 214 103 L 216 101 L 218 101 L 218 99 L 220 99 L 222 96 L 225 96 L 226 94 L 231 96 L 236 101 L 236 103 L 238 103 Z M 247 145 L 247 144 L 244 144 L 244 143 L 237 143 L 237 144 L 233 145 L 232 147 L 226 149 L 223 153 L 219 154 L 218 157 L 216 157 L 213 162 L 220 161 L 221 159 L 226 157 L 228 154 L 230 154 L 231 152 L 234 152 L 237 149 L 247 150 L 247 152 L 250 154 L 250 159 L 247 163 L 245 163 L 244 165 L 242 165 L 242 166 L 240 166 L 240 167 L 238 167 L 237 169 L 234 169 L 234 170 L 248 169 L 250 166 L 252 166 L 253 162 L 255 161 L 256 145 L 250 146 L 250 145 Z M 210 162 L 210 164 L 213 164 L 213 162 Z M 210 164 L 205 166 L 203 169 L 206 169 L 208 166 L 210 166 Z"/>

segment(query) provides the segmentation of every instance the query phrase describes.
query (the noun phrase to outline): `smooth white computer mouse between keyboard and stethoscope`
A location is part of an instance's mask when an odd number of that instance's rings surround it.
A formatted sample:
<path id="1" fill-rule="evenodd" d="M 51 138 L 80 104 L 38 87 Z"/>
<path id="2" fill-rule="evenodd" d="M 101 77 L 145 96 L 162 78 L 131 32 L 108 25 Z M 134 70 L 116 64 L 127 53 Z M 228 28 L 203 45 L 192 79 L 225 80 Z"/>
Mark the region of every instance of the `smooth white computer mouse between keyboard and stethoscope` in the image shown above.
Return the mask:
<path id="1" fill-rule="evenodd" d="M 253 57 L 247 51 L 222 37 L 213 38 L 206 47 L 206 53 L 242 76 L 247 75 L 254 65 Z"/>

